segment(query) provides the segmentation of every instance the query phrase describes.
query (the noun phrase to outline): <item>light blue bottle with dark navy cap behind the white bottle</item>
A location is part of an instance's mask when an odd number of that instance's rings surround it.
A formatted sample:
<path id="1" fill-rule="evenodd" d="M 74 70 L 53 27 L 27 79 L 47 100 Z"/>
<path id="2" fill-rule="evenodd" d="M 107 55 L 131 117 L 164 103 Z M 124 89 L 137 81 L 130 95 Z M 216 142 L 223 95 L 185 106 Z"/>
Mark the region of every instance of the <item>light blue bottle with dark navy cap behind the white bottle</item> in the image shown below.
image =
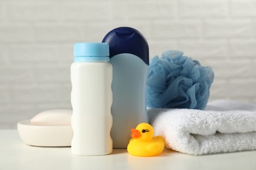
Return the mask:
<path id="1" fill-rule="evenodd" d="M 113 126 L 114 148 L 127 148 L 131 128 L 148 122 L 146 112 L 146 78 L 148 75 L 148 42 L 131 27 L 117 27 L 103 39 L 110 46 L 113 67 Z"/>

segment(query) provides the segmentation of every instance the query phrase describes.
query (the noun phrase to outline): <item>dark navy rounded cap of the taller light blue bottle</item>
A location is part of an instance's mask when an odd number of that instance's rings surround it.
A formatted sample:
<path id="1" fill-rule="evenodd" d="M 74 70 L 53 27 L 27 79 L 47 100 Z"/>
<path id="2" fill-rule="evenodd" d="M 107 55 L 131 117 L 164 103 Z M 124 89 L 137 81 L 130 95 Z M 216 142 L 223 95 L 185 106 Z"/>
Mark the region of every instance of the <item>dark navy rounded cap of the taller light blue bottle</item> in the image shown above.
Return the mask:
<path id="1" fill-rule="evenodd" d="M 110 31 L 102 40 L 110 45 L 110 58 L 117 54 L 133 54 L 149 65 L 148 42 L 137 29 L 117 27 Z"/>

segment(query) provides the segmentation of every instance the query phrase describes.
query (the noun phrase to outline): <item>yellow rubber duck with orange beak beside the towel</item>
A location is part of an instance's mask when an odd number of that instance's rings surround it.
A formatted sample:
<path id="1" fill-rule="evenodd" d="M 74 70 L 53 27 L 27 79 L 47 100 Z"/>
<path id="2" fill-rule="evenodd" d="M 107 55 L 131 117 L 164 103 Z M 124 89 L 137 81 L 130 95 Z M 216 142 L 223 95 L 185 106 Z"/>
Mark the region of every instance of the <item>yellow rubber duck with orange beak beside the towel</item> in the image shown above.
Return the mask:
<path id="1" fill-rule="evenodd" d="M 157 156 L 163 152 L 163 138 L 154 137 L 154 129 L 150 124 L 141 123 L 136 129 L 131 129 L 131 137 L 127 151 L 133 156 Z"/>

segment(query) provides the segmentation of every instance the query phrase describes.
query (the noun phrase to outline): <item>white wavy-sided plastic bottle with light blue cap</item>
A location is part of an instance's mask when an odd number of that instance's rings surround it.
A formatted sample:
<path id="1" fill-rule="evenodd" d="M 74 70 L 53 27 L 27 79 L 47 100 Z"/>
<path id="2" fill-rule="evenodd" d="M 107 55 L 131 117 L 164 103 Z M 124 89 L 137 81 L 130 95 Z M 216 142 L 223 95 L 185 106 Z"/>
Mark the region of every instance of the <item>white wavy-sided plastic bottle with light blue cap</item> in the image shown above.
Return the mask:
<path id="1" fill-rule="evenodd" d="M 75 43 L 71 65 L 73 107 L 72 153 L 81 156 L 112 152 L 112 65 L 106 43 Z"/>

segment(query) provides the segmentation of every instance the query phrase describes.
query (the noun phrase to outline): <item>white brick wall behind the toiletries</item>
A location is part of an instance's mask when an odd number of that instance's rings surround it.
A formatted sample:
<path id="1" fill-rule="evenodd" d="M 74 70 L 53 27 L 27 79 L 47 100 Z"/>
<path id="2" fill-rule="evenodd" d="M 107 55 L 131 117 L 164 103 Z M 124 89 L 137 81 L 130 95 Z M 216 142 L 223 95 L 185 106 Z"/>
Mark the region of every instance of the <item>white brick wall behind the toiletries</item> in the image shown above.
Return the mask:
<path id="1" fill-rule="evenodd" d="M 139 29 L 150 57 L 181 50 L 215 71 L 210 99 L 256 103 L 256 0 L 0 0 L 0 128 L 72 109 L 73 44 Z"/>

